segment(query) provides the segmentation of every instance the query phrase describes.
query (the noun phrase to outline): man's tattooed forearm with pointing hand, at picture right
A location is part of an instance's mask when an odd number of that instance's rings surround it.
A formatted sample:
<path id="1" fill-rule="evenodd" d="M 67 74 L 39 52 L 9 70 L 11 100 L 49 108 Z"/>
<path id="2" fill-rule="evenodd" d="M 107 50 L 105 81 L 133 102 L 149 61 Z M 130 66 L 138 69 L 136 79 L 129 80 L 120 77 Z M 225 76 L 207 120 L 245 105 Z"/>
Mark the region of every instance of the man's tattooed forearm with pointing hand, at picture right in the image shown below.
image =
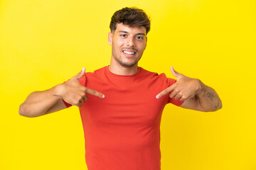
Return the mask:
<path id="1" fill-rule="evenodd" d="M 206 86 L 198 79 L 186 77 L 176 72 L 173 67 L 171 67 L 171 72 L 178 81 L 164 91 L 161 91 L 156 98 L 171 92 L 170 98 L 184 101 L 181 105 L 182 108 L 196 111 L 217 111 L 222 108 L 221 100 L 213 88 Z"/>

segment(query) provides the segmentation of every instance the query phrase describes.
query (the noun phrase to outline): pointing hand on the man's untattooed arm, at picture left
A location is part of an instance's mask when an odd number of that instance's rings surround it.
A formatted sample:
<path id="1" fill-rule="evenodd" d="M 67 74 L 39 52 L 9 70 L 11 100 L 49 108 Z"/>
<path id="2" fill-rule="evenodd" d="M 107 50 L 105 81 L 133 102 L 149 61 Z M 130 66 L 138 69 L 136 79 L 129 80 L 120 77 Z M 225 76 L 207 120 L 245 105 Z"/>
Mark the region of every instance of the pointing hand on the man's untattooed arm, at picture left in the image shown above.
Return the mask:
<path id="1" fill-rule="evenodd" d="M 88 89 L 79 83 L 79 79 L 85 74 L 85 67 L 77 75 L 65 82 L 65 84 L 58 85 L 57 96 L 60 96 L 65 102 L 71 105 L 82 107 L 82 103 L 87 101 L 87 94 L 92 94 L 94 96 L 104 98 L 105 96 L 98 91 Z"/>

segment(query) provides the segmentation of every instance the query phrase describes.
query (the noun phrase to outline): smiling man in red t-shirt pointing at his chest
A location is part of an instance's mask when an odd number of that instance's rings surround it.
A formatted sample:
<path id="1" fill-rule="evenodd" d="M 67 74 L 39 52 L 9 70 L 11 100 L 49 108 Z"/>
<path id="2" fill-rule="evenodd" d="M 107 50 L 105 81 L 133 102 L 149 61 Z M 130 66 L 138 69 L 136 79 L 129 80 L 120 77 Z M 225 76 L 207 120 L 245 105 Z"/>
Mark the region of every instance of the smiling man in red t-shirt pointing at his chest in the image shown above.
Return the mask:
<path id="1" fill-rule="evenodd" d="M 36 117 L 78 106 L 89 170 L 161 169 L 160 122 L 166 103 L 196 111 L 217 111 L 222 103 L 212 88 L 173 67 L 178 81 L 138 67 L 150 30 L 141 9 L 116 11 L 110 29 L 110 66 L 93 73 L 82 68 L 64 84 L 33 92 L 19 113 Z"/>

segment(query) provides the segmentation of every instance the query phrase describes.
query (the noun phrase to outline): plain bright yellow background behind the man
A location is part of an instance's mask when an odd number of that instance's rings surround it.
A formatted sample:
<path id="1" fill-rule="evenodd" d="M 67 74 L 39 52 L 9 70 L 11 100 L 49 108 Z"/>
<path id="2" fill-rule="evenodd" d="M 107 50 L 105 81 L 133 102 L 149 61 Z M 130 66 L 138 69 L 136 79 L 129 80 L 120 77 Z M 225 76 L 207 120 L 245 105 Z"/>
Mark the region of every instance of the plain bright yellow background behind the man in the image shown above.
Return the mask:
<path id="1" fill-rule="evenodd" d="M 254 0 L 0 1 L 0 169 L 86 169 L 77 107 L 39 118 L 18 115 L 32 91 L 110 63 L 110 18 L 124 6 L 151 16 L 139 66 L 176 71 L 212 86 L 213 113 L 166 106 L 163 170 L 256 169 Z"/>

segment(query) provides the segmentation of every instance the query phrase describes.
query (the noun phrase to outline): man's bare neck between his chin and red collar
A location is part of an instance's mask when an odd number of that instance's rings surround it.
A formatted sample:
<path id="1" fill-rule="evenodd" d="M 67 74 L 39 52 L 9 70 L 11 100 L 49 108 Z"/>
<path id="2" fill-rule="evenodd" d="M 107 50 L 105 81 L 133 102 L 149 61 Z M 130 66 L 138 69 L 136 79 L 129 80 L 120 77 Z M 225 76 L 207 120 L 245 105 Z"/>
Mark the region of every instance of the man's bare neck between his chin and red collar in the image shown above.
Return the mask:
<path id="1" fill-rule="evenodd" d="M 137 74 L 138 66 L 137 66 L 137 64 L 134 64 L 134 66 L 132 66 L 132 67 L 123 67 L 120 64 L 110 63 L 109 70 L 113 74 L 122 75 L 122 76 L 130 76 L 130 75 Z"/>

